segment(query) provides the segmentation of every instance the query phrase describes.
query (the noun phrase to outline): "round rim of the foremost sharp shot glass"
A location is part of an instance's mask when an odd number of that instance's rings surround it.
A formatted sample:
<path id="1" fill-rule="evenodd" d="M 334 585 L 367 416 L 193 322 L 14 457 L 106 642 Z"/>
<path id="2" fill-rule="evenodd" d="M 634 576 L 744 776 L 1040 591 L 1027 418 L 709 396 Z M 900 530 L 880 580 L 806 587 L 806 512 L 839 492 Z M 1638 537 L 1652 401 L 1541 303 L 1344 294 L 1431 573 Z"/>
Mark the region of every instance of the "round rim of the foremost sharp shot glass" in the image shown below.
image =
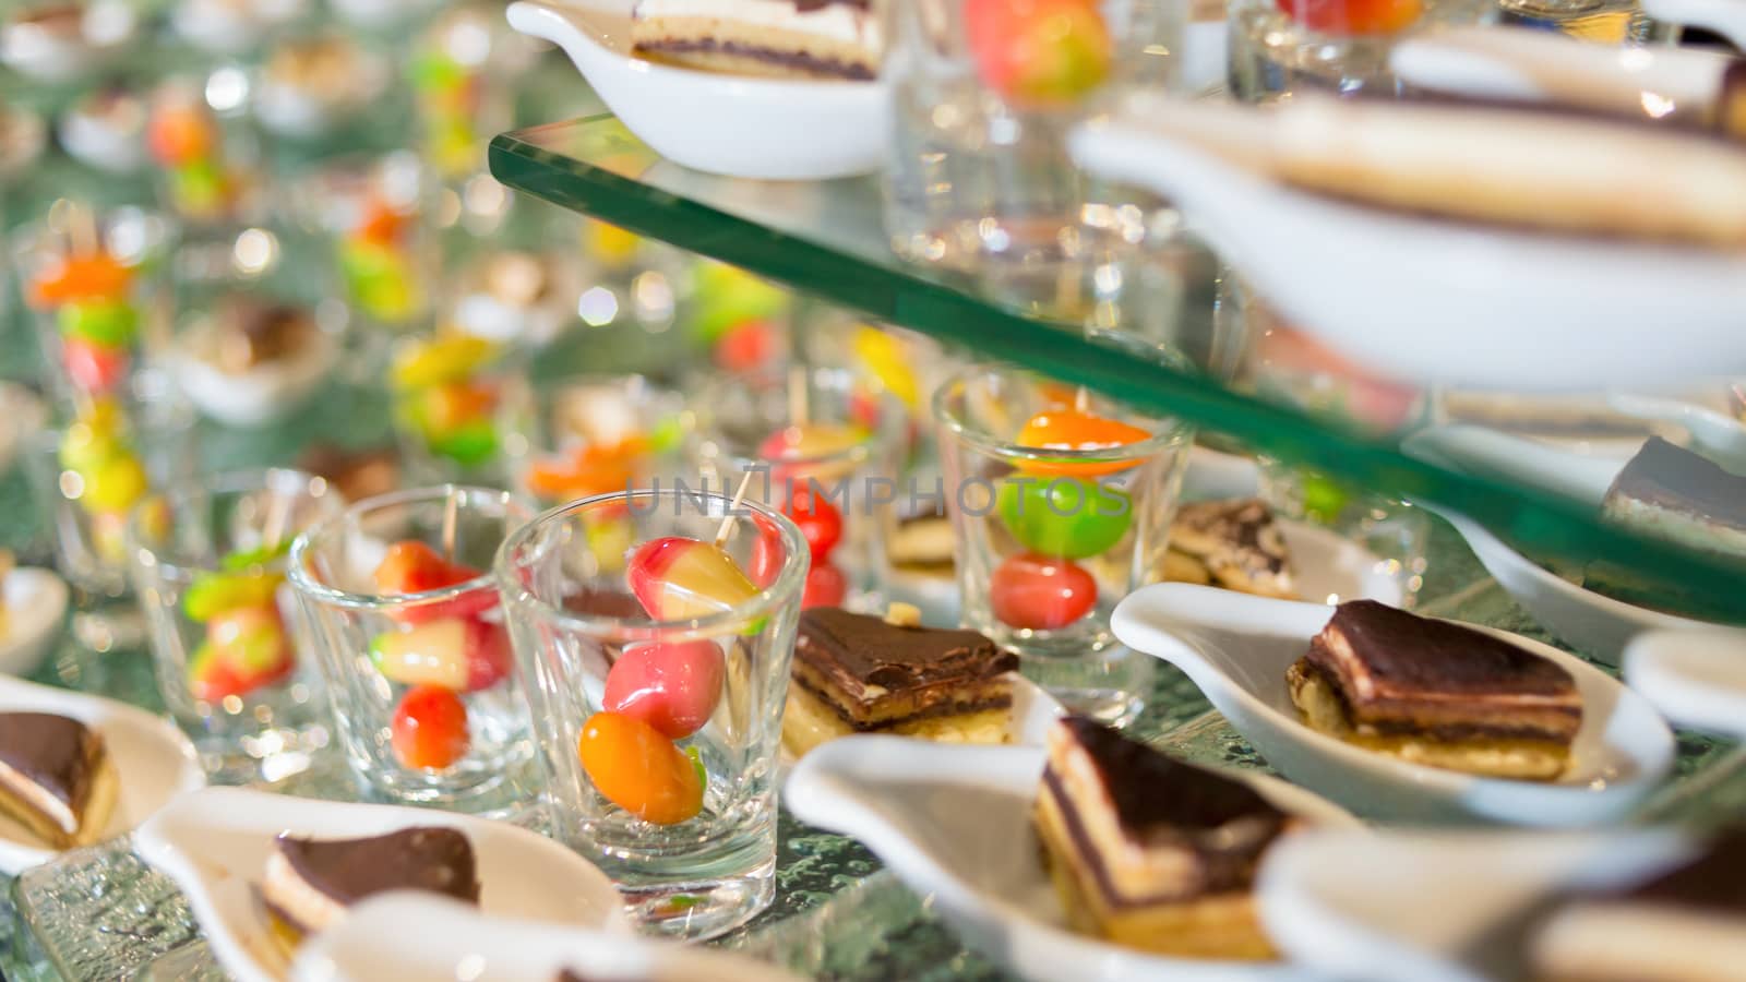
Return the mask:
<path id="1" fill-rule="evenodd" d="M 688 620 L 648 620 L 632 624 L 627 622 L 623 617 L 583 613 L 559 606 L 541 596 L 536 596 L 512 575 L 513 570 L 520 568 L 520 564 L 517 564 L 512 559 L 512 556 L 533 540 L 536 529 L 545 528 L 548 522 L 567 521 L 587 508 L 595 508 L 608 503 L 629 503 L 639 498 L 665 501 L 665 500 L 674 500 L 677 494 L 679 491 L 670 488 L 669 489 L 639 488 L 634 491 L 611 491 L 608 494 L 594 494 L 592 498 L 581 498 L 576 501 L 569 501 L 567 505 L 559 505 L 555 508 L 541 512 L 538 517 L 534 517 L 533 521 L 529 521 L 527 524 L 508 535 L 503 540 L 503 545 L 498 547 L 498 556 L 491 564 L 492 575 L 498 580 L 498 594 L 503 598 L 505 605 L 526 610 L 534 617 L 538 617 L 541 622 L 559 624 L 562 627 L 576 629 L 590 636 L 611 638 L 618 634 L 630 634 L 630 638 L 627 640 L 644 640 L 643 638 L 644 634 L 648 638 L 653 638 L 655 634 L 662 636 L 683 634 L 688 640 L 712 638 L 721 633 L 719 631 L 721 627 L 742 624 L 747 620 L 756 620 L 760 615 L 770 613 L 770 610 L 779 606 L 782 603 L 782 598 L 787 594 L 798 596 L 800 587 L 807 577 L 803 570 L 810 564 L 810 559 L 808 563 L 784 563 L 782 571 L 777 575 L 775 582 L 772 582 L 768 587 L 760 589 L 756 594 L 753 594 L 739 606 L 711 613 L 709 617 L 693 617 Z M 697 491 L 697 493 L 684 491 L 684 496 L 686 498 L 702 496 L 709 503 L 719 503 L 723 507 L 723 514 L 711 517 L 730 517 L 726 514 L 726 508 L 735 505 L 733 496 L 721 494 L 718 491 Z M 801 535 L 800 526 L 796 526 L 793 519 L 789 519 L 787 515 L 768 505 L 753 500 L 740 500 L 737 507 L 746 508 L 753 515 L 773 522 L 775 529 L 782 536 L 782 549 L 786 550 L 787 556 L 807 554 L 810 557 L 807 547 L 807 536 Z M 732 515 L 732 517 L 746 519 L 749 515 Z"/>

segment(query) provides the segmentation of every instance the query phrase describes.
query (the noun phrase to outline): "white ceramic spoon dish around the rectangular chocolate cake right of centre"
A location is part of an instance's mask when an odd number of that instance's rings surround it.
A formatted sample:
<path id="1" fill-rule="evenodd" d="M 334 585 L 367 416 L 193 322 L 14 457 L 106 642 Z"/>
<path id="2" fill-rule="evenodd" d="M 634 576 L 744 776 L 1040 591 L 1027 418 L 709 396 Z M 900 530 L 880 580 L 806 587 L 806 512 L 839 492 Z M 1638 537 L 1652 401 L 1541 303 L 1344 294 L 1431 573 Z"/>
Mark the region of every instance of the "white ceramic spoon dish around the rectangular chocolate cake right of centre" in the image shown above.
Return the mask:
<path id="1" fill-rule="evenodd" d="M 1130 648 L 1187 673 L 1280 774 L 1364 816 L 1598 825 L 1624 816 L 1673 767 L 1673 732 L 1641 695 L 1550 645 L 1477 626 L 1575 680 L 1582 729 L 1556 783 L 1423 767 L 1320 734 L 1299 720 L 1285 669 L 1329 617 L 1322 605 L 1161 584 L 1123 599 L 1110 627 Z"/>

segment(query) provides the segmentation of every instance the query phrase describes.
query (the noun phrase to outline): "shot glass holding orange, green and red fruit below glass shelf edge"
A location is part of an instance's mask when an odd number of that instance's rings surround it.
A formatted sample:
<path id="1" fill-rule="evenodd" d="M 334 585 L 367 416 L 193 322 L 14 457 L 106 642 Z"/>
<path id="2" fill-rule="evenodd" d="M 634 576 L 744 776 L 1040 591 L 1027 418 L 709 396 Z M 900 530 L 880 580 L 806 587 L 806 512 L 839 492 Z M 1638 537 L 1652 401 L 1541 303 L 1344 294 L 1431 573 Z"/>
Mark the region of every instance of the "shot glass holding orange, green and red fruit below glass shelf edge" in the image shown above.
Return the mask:
<path id="1" fill-rule="evenodd" d="M 1168 549 L 1191 430 L 986 365 L 941 386 L 934 419 L 964 624 L 1069 709 L 1128 722 L 1151 666 L 1109 615 Z"/>

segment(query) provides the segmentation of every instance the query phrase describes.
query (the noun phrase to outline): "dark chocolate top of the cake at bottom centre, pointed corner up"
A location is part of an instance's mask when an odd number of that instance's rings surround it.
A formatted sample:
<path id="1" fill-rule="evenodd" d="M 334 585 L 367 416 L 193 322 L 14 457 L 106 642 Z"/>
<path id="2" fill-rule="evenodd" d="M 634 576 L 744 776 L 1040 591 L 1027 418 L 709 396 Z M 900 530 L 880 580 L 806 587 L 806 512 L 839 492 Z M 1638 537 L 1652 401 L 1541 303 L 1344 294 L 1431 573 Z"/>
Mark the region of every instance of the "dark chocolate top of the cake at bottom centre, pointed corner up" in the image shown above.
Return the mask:
<path id="1" fill-rule="evenodd" d="M 1133 839 L 1193 837 L 1245 818 L 1285 823 L 1285 813 L 1241 781 L 1170 758 L 1084 716 L 1069 716 L 1060 725 L 1096 762 L 1116 818 Z M 1217 849 L 1213 840 L 1194 846 Z"/>

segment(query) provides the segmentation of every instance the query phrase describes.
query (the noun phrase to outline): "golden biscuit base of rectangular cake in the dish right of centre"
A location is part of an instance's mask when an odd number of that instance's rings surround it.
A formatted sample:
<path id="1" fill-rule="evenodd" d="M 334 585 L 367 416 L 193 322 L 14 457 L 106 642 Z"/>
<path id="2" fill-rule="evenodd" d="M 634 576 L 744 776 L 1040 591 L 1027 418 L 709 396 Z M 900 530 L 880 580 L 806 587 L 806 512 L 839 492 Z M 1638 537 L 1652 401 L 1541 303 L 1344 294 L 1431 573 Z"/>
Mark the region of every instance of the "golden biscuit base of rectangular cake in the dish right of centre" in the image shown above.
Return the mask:
<path id="1" fill-rule="evenodd" d="M 1444 739 L 1433 734 L 1360 732 L 1351 725 L 1346 704 L 1334 692 L 1334 687 L 1306 662 L 1294 664 L 1287 671 L 1287 681 L 1292 704 L 1303 713 L 1310 729 L 1407 764 L 1523 781 L 1550 781 L 1570 765 L 1570 748 L 1554 741 L 1507 736 Z"/>

